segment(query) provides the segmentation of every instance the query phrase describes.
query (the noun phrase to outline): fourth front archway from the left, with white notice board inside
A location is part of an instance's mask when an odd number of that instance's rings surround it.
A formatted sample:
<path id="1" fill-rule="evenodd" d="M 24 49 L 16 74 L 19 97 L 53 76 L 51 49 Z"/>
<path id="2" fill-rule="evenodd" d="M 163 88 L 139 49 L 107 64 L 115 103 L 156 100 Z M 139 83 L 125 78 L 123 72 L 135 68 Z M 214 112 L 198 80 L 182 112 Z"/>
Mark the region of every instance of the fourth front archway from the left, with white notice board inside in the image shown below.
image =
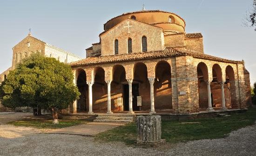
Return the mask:
<path id="1" fill-rule="evenodd" d="M 128 85 L 126 88 L 128 88 Z M 140 110 L 140 107 L 138 106 L 138 98 L 141 98 L 141 110 L 150 110 L 150 84 L 148 81 L 148 71 L 147 66 L 141 62 L 136 63 L 134 66 L 132 95 L 133 110 Z"/>

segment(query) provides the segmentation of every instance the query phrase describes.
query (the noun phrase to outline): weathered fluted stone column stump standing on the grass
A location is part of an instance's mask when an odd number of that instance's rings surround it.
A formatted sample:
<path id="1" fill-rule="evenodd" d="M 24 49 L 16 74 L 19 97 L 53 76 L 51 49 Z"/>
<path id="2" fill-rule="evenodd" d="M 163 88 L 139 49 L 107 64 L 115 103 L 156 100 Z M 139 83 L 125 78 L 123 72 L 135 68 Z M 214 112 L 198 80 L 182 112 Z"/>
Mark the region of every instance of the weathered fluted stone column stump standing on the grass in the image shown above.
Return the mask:
<path id="1" fill-rule="evenodd" d="M 158 144 L 161 139 L 161 116 L 138 116 L 137 117 L 137 143 Z"/>

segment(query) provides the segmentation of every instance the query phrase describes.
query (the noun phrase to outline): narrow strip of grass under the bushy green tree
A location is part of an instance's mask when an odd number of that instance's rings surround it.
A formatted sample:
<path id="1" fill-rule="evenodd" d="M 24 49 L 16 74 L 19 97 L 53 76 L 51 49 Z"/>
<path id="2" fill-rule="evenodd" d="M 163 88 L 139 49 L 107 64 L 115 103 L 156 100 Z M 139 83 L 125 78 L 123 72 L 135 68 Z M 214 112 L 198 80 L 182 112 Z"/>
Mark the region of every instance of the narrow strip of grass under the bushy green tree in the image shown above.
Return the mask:
<path id="1" fill-rule="evenodd" d="M 64 127 L 70 127 L 82 123 L 87 123 L 83 120 L 59 120 L 59 124 L 53 124 L 53 120 L 20 120 L 8 122 L 14 126 L 25 126 L 25 127 L 34 127 L 38 129 L 60 129 Z"/>

